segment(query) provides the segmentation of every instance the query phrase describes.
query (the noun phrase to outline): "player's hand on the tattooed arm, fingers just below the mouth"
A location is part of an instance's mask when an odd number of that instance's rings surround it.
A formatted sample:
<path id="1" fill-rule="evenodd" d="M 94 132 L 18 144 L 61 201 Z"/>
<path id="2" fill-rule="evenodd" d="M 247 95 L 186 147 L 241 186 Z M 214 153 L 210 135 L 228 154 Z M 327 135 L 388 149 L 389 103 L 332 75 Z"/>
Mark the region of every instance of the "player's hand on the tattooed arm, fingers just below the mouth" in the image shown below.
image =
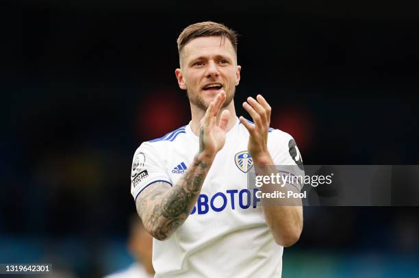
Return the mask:
<path id="1" fill-rule="evenodd" d="M 225 98 L 225 91 L 221 90 L 216 99 L 210 103 L 204 117 L 201 119 L 198 155 L 203 155 L 203 158 L 214 159 L 218 151 L 224 147 L 230 112 L 229 110 L 224 110 L 221 113 L 218 125 L 217 117 Z"/>

